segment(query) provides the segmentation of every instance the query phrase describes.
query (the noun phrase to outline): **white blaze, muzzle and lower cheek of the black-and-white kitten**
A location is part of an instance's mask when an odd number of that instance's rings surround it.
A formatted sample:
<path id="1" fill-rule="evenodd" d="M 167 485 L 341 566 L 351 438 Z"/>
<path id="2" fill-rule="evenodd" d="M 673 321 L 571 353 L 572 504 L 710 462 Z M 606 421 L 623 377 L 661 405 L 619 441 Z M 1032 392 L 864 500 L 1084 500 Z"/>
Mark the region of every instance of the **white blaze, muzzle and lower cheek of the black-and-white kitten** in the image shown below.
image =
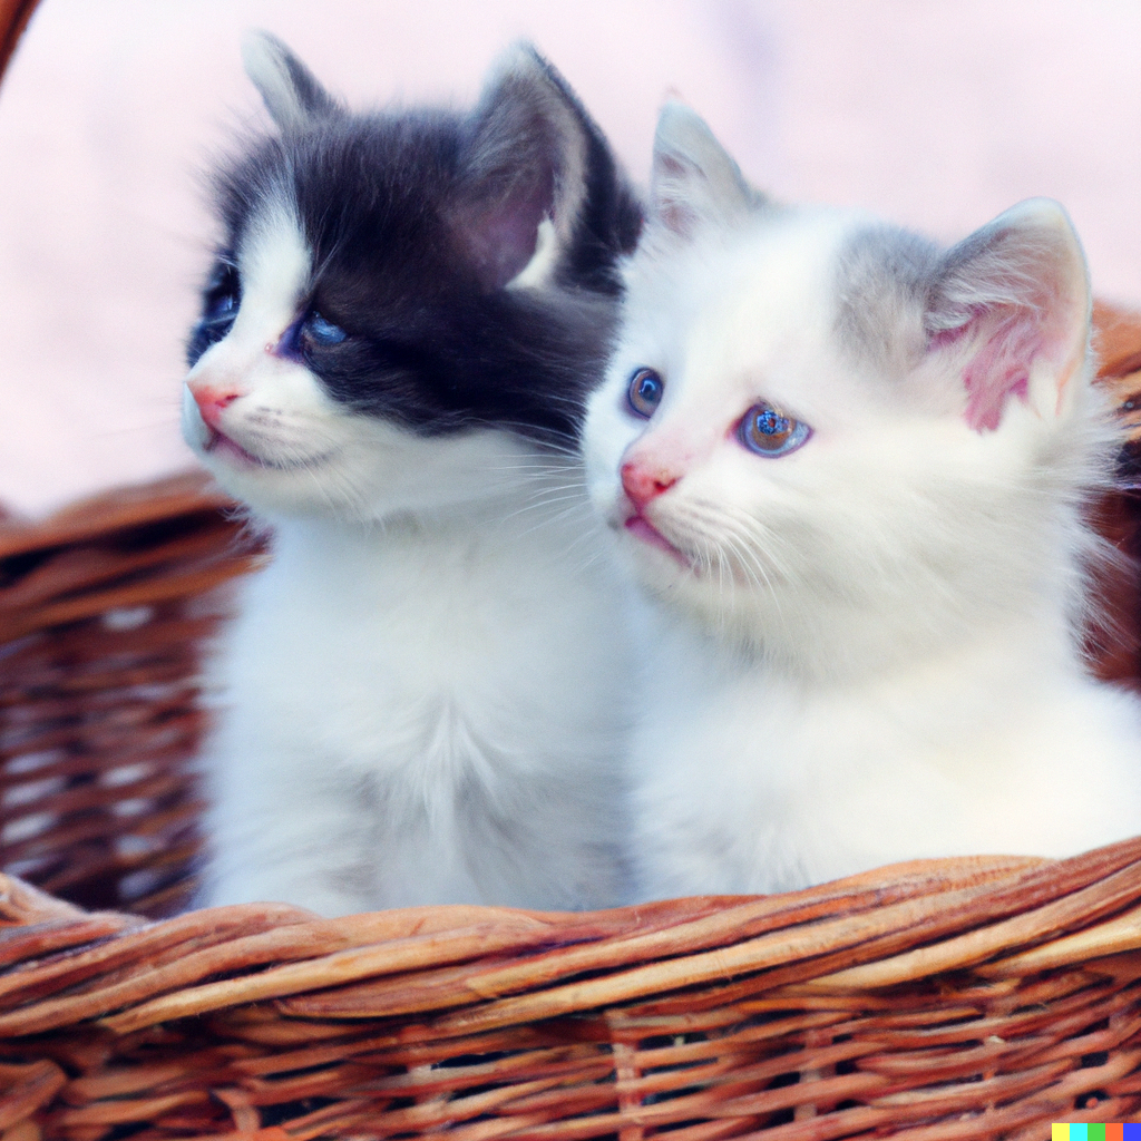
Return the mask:
<path id="1" fill-rule="evenodd" d="M 205 347 L 183 397 L 183 431 L 203 463 L 237 499 L 288 515 L 383 518 L 492 494 L 521 442 L 418 434 L 331 394 L 313 364 L 334 367 L 359 348 L 314 304 L 314 256 L 296 212 L 270 207 L 208 291 Z"/>

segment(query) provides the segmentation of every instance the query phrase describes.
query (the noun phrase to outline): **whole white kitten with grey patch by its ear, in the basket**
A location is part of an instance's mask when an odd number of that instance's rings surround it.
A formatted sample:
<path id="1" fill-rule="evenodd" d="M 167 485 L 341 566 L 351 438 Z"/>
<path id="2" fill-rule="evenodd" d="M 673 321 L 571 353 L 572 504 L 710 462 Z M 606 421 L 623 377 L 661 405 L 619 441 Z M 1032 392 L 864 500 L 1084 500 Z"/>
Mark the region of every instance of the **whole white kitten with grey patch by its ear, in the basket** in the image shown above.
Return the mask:
<path id="1" fill-rule="evenodd" d="M 752 191 L 663 112 L 592 499 L 656 604 L 644 898 L 1141 832 L 1141 707 L 1079 649 L 1116 445 L 1063 210 L 950 250 Z"/>

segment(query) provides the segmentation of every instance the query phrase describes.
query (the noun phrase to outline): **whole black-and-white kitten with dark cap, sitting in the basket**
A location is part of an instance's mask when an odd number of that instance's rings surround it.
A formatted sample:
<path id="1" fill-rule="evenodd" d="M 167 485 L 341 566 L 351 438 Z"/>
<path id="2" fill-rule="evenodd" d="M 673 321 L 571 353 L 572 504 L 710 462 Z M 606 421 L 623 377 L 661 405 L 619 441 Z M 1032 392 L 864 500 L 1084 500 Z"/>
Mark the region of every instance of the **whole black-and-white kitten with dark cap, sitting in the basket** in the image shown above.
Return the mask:
<path id="1" fill-rule="evenodd" d="M 628 606 L 576 437 L 640 207 L 520 48 L 470 114 L 356 114 L 268 35 L 184 434 L 273 532 L 219 653 L 202 904 L 623 893 Z"/>

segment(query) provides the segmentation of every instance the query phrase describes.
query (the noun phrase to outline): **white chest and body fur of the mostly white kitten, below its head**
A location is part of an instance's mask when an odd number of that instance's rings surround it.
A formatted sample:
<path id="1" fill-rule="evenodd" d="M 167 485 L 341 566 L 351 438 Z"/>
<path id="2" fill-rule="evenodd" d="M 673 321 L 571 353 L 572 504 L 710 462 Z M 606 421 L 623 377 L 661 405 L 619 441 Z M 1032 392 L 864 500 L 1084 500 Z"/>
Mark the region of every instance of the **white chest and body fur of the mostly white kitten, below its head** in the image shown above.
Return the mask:
<path id="1" fill-rule="evenodd" d="M 1022 633 L 804 686 L 671 623 L 633 751 L 639 896 L 1133 835 L 1141 710 Z"/>

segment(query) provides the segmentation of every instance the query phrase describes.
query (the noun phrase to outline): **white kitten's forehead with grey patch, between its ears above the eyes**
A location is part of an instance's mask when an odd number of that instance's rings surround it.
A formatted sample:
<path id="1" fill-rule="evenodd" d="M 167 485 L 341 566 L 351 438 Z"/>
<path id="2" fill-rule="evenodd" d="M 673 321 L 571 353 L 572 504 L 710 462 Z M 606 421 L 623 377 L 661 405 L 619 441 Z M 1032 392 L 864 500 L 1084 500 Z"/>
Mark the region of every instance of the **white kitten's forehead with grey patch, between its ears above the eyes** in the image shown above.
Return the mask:
<path id="1" fill-rule="evenodd" d="M 932 243 L 860 212 L 767 211 L 644 266 L 631 281 L 634 324 L 674 340 L 674 369 L 705 394 L 794 402 L 807 414 L 872 396 L 879 386 L 856 387 L 858 377 L 914 366 L 938 266 Z"/>

